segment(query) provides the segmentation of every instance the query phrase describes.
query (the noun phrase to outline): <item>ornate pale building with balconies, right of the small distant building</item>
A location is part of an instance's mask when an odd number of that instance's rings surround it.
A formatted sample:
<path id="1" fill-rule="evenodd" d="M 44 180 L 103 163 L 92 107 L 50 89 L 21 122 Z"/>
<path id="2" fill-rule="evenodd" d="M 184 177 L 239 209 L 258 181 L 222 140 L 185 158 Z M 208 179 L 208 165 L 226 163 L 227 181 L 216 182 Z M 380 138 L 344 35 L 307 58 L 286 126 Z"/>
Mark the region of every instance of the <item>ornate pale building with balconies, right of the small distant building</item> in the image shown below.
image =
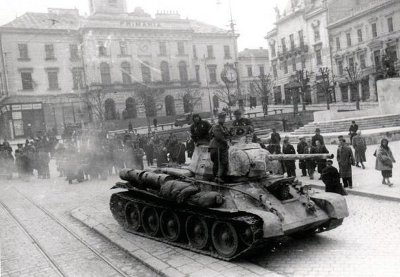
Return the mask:
<path id="1" fill-rule="evenodd" d="M 331 67 L 327 32 L 327 1 L 289 0 L 283 13 L 277 11 L 274 29 L 267 33 L 272 75 L 275 78 L 274 103 L 291 103 L 297 70 L 312 72 L 307 103 L 326 102 L 325 94 L 312 84 L 319 79 L 320 67 Z"/>

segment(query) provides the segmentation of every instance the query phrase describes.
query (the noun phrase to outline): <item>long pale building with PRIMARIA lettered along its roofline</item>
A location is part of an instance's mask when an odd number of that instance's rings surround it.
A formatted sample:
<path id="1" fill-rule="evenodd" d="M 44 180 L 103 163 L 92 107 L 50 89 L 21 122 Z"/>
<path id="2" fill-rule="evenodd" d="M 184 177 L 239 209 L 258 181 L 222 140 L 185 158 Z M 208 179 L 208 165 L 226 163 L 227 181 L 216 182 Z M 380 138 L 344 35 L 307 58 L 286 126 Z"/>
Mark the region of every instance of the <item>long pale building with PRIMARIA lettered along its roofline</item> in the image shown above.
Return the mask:
<path id="1" fill-rule="evenodd" d="M 87 18 L 75 9 L 25 13 L 0 27 L 0 136 L 90 122 L 85 96 L 95 92 L 106 120 L 145 117 L 137 83 L 161 88 L 157 117 L 190 110 L 186 87 L 200 91 L 195 111 L 210 110 L 207 84 L 212 94 L 235 62 L 237 37 L 176 12 L 128 13 L 126 0 L 90 0 Z"/>

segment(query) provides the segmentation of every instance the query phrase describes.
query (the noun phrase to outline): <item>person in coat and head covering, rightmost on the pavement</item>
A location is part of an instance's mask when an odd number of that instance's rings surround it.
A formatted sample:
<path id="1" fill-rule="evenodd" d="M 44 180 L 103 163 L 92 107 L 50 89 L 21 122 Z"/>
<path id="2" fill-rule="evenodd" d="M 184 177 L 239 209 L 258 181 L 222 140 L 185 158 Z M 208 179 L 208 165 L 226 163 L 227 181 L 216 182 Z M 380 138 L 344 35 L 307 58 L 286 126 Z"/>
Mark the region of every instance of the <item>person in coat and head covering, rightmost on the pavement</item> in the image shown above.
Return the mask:
<path id="1" fill-rule="evenodd" d="M 382 173 L 382 184 L 393 186 L 390 178 L 392 178 L 393 164 L 396 162 L 396 160 L 394 160 L 392 150 L 389 148 L 389 141 L 387 139 L 382 139 L 380 141 L 380 146 L 378 146 L 377 150 L 375 150 L 374 156 L 377 157 L 375 161 L 375 169 Z"/>

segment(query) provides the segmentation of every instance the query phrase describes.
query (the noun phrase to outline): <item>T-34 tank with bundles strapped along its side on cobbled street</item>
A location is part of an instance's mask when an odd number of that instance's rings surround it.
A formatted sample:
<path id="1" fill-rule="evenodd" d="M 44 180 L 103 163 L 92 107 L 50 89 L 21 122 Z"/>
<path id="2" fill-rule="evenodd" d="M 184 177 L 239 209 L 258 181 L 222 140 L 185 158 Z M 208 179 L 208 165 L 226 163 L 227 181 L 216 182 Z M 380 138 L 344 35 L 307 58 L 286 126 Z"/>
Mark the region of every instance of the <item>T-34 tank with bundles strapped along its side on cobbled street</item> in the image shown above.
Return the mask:
<path id="1" fill-rule="evenodd" d="M 207 146 L 187 167 L 125 170 L 113 188 L 111 212 L 126 231 L 219 259 L 253 252 L 280 236 L 320 233 L 349 215 L 334 193 L 309 193 L 294 177 L 269 174 L 275 160 L 332 155 L 271 155 L 241 136 L 229 148 L 226 183 L 209 181 Z"/>

